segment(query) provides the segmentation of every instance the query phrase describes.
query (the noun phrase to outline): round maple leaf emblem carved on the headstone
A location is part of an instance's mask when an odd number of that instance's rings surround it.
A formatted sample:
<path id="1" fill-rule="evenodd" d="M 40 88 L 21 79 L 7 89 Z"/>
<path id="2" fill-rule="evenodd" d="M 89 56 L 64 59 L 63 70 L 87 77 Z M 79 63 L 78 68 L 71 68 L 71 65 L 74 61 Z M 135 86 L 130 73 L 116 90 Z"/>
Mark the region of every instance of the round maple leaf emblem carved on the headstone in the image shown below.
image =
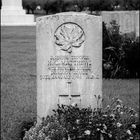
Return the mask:
<path id="1" fill-rule="evenodd" d="M 55 44 L 60 50 L 72 53 L 72 48 L 79 48 L 85 41 L 83 29 L 75 23 L 60 25 L 54 34 Z"/>

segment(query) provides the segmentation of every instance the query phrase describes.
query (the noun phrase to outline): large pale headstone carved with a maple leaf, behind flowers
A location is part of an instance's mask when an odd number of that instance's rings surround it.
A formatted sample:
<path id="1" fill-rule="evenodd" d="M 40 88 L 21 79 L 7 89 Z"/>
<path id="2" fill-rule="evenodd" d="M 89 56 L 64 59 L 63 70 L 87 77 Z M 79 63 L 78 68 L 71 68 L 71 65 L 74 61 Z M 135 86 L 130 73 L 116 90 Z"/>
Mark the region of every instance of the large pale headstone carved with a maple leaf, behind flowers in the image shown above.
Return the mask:
<path id="1" fill-rule="evenodd" d="M 57 104 L 97 107 L 102 96 L 102 18 L 66 12 L 37 18 L 37 114 Z"/>

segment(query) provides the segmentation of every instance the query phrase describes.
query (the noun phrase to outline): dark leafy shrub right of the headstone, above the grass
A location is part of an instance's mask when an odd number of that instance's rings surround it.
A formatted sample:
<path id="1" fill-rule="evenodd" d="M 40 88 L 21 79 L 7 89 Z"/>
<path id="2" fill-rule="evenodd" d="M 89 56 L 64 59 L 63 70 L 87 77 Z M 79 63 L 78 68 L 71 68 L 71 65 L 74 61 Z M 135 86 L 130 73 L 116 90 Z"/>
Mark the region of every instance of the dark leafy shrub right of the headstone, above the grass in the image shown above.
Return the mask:
<path id="1" fill-rule="evenodd" d="M 103 24 L 103 77 L 139 78 L 139 38 L 134 34 L 119 33 L 119 25 L 111 22 L 111 27 Z"/>

